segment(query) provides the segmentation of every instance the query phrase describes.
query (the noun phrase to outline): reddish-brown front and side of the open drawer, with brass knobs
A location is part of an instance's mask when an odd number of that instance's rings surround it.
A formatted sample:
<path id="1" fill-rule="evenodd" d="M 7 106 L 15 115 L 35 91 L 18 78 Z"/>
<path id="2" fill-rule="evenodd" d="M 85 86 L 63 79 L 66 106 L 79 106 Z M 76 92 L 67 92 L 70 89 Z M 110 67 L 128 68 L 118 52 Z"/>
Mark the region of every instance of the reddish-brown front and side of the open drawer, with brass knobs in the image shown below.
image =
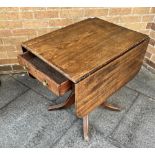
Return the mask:
<path id="1" fill-rule="evenodd" d="M 27 53 L 26 53 L 27 54 Z M 42 72 L 39 68 L 37 68 L 34 64 L 32 64 L 27 57 L 24 55 L 18 55 L 19 64 L 22 65 L 28 73 L 33 75 L 36 79 L 38 79 L 44 86 L 46 86 L 49 90 L 51 90 L 54 94 L 58 96 L 64 95 L 65 92 L 71 89 L 72 82 L 69 80 L 65 80 L 63 82 L 56 82 L 52 77 L 48 76 L 46 73 Z M 29 58 L 29 59 L 28 59 Z M 51 68 L 53 69 L 53 68 Z"/>

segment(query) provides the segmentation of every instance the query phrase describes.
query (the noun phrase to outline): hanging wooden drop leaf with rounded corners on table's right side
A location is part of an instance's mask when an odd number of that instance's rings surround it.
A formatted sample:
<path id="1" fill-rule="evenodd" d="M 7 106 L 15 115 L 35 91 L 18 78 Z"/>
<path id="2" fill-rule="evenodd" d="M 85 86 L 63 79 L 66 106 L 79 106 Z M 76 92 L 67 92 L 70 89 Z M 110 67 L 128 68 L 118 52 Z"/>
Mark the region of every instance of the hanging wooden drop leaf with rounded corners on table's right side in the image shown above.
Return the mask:
<path id="1" fill-rule="evenodd" d="M 143 41 L 75 84 L 75 106 L 78 117 L 86 116 L 136 75 L 142 65 L 148 42 L 149 39 Z"/>

